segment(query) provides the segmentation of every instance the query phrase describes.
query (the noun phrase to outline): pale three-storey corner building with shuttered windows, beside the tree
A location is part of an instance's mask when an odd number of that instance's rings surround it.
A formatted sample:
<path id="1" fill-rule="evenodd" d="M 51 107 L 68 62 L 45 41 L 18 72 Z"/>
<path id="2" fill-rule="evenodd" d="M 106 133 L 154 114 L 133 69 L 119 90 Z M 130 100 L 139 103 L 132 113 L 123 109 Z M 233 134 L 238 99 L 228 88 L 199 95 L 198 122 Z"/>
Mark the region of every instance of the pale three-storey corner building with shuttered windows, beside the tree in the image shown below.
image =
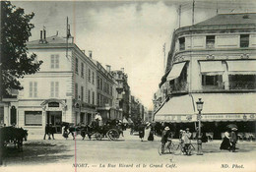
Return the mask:
<path id="1" fill-rule="evenodd" d="M 51 123 L 90 123 L 96 114 L 96 65 L 73 40 L 58 35 L 28 42 L 30 53 L 42 60 L 39 72 L 21 80 L 18 125 L 42 133 Z"/>

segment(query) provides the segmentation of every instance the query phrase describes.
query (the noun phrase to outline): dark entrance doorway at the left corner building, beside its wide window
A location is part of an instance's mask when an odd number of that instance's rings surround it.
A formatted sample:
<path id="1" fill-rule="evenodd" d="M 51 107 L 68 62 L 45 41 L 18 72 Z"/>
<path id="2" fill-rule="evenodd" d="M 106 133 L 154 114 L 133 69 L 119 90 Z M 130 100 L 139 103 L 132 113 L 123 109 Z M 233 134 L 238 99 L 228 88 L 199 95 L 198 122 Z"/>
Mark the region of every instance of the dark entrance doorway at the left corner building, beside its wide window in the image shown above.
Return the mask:
<path id="1" fill-rule="evenodd" d="M 61 111 L 47 111 L 47 123 L 52 124 L 55 128 L 56 134 L 61 134 L 61 122 L 62 122 L 62 112 Z"/>

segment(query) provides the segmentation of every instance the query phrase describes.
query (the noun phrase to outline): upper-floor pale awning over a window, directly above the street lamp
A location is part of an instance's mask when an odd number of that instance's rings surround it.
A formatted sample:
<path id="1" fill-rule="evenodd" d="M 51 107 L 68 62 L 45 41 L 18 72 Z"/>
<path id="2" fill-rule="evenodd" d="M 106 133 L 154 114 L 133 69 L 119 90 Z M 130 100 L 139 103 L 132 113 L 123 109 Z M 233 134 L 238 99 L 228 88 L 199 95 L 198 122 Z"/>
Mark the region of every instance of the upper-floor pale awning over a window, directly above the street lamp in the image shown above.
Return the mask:
<path id="1" fill-rule="evenodd" d="M 222 61 L 201 61 L 200 68 L 201 73 L 206 73 L 206 75 L 207 73 L 211 75 L 224 72 Z"/>

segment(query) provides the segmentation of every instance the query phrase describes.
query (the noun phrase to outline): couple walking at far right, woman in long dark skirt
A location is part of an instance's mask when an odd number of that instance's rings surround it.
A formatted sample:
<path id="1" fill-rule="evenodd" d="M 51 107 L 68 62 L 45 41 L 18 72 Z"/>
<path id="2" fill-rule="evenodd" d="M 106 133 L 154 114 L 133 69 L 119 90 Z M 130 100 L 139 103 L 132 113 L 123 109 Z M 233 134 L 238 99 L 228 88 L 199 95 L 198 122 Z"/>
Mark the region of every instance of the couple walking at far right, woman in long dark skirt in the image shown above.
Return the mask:
<path id="1" fill-rule="evenodd" d="M 224 133 L 224 140 L 220 149 L 226 149 L 233 152 L 235 151 L 235 144 L 237 142 L 237 137 L 235 134 L 236 131 L 236 128 L 232 128 L 229 133 L 227 131 Z"/>

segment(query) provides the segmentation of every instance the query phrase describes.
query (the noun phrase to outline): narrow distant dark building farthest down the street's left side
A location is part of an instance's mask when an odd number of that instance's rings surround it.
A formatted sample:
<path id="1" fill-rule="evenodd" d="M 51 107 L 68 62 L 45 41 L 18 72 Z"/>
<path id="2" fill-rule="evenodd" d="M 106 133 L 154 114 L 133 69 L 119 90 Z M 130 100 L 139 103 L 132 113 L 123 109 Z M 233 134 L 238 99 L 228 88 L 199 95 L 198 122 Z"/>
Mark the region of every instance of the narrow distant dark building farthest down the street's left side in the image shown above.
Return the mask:
<path id="1" fill-rule="evenodd" d="M 123 110 L 125 118 L 130 117 L 130 86 L 128 85 L 128 76 L 124 73 L 124 69 L 111 71 L 112 76 L 117 82 L 117 97 L 119 99 L 119 107 Z"/>

